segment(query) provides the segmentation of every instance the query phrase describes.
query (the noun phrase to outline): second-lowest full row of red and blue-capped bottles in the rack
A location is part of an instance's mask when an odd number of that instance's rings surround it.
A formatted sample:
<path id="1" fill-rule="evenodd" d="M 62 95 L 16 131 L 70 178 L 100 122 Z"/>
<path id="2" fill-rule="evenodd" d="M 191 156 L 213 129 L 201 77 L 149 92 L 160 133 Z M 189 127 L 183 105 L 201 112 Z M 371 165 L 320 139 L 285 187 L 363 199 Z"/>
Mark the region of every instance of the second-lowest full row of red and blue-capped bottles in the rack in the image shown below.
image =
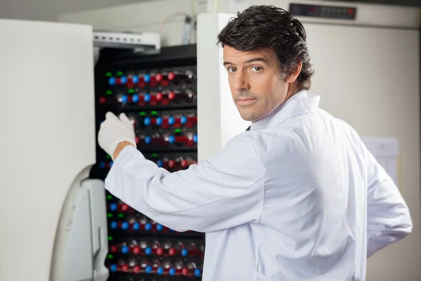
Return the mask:
<path id="1" fill-rule="evenodd" d="M 113 254 L 135 254 L 140 256 L 203 256 L 203 244 L 180 240 L 132 240 L 131 243 L 116 243 L 109 247 Z"/>

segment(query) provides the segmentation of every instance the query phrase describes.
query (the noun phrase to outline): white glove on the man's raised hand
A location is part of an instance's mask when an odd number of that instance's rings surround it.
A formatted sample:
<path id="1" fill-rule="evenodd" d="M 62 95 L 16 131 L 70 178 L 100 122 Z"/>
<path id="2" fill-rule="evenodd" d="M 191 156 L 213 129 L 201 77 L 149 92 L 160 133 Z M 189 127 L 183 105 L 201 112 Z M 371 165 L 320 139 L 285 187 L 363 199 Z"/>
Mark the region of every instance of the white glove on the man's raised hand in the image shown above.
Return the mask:
<path id="1" fill-rule="evenodd" d="M 135 128 L 132 122 L 124 113 L 116 117 L 114 113 L 107 112 L 98 132 L 98 144 L 112 157 L 117 145 L 122 141 L 128 141 L 136 147 Z"/>

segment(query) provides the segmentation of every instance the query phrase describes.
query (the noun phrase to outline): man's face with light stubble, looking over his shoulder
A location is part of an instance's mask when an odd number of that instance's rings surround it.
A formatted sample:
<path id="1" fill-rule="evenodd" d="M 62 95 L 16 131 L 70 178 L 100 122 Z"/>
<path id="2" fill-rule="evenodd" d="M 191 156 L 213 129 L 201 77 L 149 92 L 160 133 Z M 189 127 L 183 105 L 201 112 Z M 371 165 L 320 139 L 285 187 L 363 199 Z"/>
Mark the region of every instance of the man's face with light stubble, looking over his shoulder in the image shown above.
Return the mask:
<path id="1" fill-rule="evenodd" d="M 224 66 L 241 118 L 256 122 L 286 99 L 288 84 L 272 49 L 237 51 L 224 46 Z"/>

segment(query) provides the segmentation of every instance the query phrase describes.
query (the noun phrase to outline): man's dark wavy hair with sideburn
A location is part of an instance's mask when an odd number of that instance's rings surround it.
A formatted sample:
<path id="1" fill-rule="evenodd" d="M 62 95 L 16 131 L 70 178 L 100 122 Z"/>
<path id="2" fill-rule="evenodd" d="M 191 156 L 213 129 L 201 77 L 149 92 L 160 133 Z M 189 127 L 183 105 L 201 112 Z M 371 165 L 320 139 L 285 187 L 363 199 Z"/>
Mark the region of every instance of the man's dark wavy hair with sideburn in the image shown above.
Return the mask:
<path id="1" fill-rule="evenodd" d="M 301 22 L 282 8 L 275 6 L 250 6 L 237 13 L 218 34 L 218 44 L 239 51 L 273 48 L 284 73 L 295 70 L 298 61 L 302 69 L 298 75 L 298 88 L 308 90 L 314 74 L 310 65 L 306 33 Z"/>

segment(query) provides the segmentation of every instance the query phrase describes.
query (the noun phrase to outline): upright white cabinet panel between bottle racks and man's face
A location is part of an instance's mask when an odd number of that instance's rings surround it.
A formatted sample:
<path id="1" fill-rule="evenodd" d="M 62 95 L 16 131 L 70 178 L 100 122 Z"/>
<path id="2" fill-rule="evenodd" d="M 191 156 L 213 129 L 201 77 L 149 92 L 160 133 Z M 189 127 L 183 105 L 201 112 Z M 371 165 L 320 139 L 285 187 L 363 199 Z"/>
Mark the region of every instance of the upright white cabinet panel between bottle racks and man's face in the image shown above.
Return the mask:
<path id="1" fill-rule="evenodd" d="M 206 13 L 197 22 L 197 157 L 203 161 L 220 151 L 229 139 L 246 131 L 250 122 L 243 120 L 232 100 L 227 70 L 222 65 L 222 48 L 215 38 L 233 15 Z"/>

